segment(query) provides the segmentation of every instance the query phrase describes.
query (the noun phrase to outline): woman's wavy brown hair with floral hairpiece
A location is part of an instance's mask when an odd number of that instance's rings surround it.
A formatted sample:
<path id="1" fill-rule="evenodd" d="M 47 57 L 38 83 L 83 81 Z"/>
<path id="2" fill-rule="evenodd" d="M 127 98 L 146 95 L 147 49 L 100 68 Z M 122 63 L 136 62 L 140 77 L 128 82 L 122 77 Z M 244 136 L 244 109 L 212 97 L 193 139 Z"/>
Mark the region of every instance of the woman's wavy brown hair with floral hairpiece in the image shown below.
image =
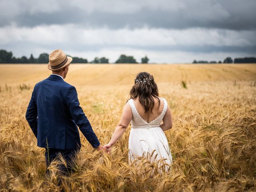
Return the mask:
<path id="1" fill-rule="evenodd" d="M 148 72 L 140 72 L 135 80 L 134 86 L 130 90 L 132 99 L 139 98 L 140 104 L 144 107 L 145 113 L 152 112 L 154 107 L 154 97 L 158 99 L 158 108 L 160 107 L 160 99 L 158 98 L 158 88 L 154 81 L 154 77 Z"/>

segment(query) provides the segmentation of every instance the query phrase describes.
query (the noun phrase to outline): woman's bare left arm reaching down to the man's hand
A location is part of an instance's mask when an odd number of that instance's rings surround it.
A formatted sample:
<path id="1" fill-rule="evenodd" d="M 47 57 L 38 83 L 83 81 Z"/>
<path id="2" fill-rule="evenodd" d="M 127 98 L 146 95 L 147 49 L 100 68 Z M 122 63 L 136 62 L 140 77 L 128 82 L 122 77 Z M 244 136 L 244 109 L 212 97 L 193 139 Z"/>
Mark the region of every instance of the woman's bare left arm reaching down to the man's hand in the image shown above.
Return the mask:
<path id="1" fill-rule="evenodd" d="M 132 109 L 127 102 L 124 106 L 124 112 L 122 114 L 122 118 L 118 125 L 116 126 L 116 129 L 112 135 L 112 138 L 110 142 L 107 144 L 107 148 L 113 146 L 117 140 L 124 134 L 126 128 L 129 126 L 130 122 L 132 120 Z"/>

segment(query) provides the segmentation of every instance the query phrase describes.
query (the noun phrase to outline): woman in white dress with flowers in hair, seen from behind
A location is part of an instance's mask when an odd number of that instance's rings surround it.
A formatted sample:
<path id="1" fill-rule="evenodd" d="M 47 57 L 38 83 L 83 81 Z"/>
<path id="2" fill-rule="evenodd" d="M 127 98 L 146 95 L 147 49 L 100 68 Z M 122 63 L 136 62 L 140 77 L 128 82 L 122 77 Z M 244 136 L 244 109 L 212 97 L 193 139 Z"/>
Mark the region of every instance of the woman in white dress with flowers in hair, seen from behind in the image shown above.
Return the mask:
<path id="1" fill-rule="evenodd" d="M 130 100 L 124 106 L 122 118 L 110 142 L 111 148 L 132 124 L 129 136 L 129 161 L 141 156 L 150 160 L 163 160 L 172 164 L 172 154 L 164 131 L 172 128 L 170 107 L 164 98 L 158 97 L 158 88 L 154 78 L 148 72 L 139 73 L 130 90 Z M 154 156 L 151 156 L 151 154 Z"/>

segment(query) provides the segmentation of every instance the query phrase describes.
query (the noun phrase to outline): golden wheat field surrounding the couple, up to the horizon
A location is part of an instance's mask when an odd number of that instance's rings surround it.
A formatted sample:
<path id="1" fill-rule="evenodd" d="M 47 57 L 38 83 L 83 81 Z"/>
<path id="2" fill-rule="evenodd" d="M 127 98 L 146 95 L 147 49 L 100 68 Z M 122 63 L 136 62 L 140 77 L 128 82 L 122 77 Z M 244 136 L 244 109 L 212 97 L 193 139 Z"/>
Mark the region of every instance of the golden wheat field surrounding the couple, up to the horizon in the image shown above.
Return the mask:
<path id="1" fill-rule="evenodd" d="M 70 64 L 65 81 L 102 144 L 142 71 L 172 111 L 169 172 L 146 158 L 128 163 L 129 126 L 110 154 L 80 133 L 77 171 L 58 186 L 56 164 L 46 178 L 44 149 L 25 119 L 34 85 L 51 72 L 46 64 L 0 65 L 0 191 L 256 191 L 256 64 Z"/>

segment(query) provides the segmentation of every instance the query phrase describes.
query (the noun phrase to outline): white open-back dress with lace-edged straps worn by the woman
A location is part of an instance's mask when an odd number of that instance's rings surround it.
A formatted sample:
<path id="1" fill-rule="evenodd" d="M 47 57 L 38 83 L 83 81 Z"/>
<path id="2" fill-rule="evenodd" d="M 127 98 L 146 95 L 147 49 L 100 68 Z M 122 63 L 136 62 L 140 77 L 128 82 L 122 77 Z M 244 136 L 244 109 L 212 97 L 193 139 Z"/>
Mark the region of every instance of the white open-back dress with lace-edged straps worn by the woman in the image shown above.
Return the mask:
<path id="1" fill-rule="evenodd" d="M 146 156 L 150 161 L 165 159 L 162 162 L 172 164 L 172 154 L 169 144 L 164 131 L 160 128 L 160 123 L 168 108 L 166 100 L 164 98 L 162 100 L 164 101 L 162 113 L 150 123 L 146 122 L 140 116 L 135 107 L 134 100 L 128 100 L 132 108 L 132 129 L 128 144 L 130 162 L 138 159 L 138 157 Z M 155 152 L 152 155 L 154 150 Z"/>

